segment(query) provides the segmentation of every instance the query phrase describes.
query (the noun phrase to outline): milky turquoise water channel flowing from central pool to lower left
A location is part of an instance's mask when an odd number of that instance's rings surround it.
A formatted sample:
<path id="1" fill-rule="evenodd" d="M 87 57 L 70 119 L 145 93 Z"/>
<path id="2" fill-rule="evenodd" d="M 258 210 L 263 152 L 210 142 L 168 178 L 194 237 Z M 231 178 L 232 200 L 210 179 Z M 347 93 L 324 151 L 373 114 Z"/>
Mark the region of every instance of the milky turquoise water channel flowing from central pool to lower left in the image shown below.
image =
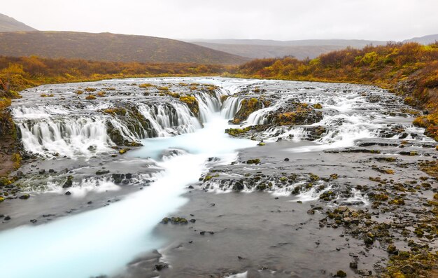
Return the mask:
<path id="1" fill-rule="evenodd" d="M 164 169 L 151 186 L 101 209 L 1 232 L 1 277 L 115 274 L 139 254 L 160 248 L 166 241 L 154 235 L 153 228 L 187 202 L 181 195 L 206 171 L 206 160 L 214 156 L 229 163 L 237 149 L 257 144 L 232 139 L 225 128 L 227 120 L 217 113 L 192 134 L 144 140 L 144 146 L 130 155 L 154 158 Z M 168 148 L 187 153 L 160 159 Z"/>

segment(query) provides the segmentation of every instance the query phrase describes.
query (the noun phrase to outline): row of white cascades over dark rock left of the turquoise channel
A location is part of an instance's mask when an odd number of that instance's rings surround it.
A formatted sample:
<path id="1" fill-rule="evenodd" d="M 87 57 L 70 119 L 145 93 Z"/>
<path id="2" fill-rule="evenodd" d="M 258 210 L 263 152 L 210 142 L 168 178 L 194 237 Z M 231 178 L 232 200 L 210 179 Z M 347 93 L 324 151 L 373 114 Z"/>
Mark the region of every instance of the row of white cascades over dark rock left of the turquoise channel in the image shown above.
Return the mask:
<path id="1" fill-rule="evenodd" d="M 123 106 L 127 112 L 122 115 L 101 112 L 114 108 L 111 102 L 79 107 L 33 104 L 13 107 L 13 116 L 29 153 L 91 157 L 112 151 L 110 147 L 119 141 L 139 142 L 195 132 L 211 113 L 220 111 L 221 95 L 220 90 L 195 94 L 199 119 L 187 105 L 174 100 L 154 104 L 128 102 Z M 118 141 L 114 141 L 115 137 Z"/>

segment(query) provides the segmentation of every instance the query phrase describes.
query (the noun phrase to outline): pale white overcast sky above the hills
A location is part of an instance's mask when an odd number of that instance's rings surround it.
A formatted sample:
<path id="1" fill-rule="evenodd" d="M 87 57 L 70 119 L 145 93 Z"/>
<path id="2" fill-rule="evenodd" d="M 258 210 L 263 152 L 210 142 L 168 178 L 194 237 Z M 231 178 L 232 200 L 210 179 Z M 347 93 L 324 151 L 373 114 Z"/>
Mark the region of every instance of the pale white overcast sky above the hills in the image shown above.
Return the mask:
<path id="1" fill-rule="evenodd" d="M 1 0 L 39 30 L 172 39 L 410 39 L 438 33 L 438 0 Z"/>

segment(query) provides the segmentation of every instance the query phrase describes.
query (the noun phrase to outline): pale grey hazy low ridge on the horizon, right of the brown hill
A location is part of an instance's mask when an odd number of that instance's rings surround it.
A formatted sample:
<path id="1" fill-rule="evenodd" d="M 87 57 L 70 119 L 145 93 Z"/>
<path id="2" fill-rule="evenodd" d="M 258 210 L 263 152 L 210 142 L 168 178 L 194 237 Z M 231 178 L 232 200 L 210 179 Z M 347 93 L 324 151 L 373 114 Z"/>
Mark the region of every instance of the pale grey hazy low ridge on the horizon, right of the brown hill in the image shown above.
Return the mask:
<path id="1" fill-rule="evenodd" d="M 271 40 L 197 40 L 190 41 L 198 46 L 232 53 L 243 57 L 264 58 L 294 56 L 298 59 L 315 58 L 323 53 L 344 49 L 347 46 L 363 48 L 367 45 L 385 45 L 386 41 L 365 40 L 300 40 L 300 41 L 271 41 Z"/>

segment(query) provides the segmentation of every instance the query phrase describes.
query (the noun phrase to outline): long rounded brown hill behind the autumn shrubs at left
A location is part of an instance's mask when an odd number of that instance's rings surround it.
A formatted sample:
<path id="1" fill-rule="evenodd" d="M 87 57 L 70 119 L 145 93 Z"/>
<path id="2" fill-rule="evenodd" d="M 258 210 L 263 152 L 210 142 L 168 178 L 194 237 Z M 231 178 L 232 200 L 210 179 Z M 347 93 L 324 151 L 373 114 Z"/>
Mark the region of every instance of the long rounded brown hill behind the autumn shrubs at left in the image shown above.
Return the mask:
<path id="1" fill-rule="evenodd" d="M 0 55 L 115 62 L 240 64 L 248 61 L 192 43 L 152 36 L 80 32 L 0 33 Z"/>

